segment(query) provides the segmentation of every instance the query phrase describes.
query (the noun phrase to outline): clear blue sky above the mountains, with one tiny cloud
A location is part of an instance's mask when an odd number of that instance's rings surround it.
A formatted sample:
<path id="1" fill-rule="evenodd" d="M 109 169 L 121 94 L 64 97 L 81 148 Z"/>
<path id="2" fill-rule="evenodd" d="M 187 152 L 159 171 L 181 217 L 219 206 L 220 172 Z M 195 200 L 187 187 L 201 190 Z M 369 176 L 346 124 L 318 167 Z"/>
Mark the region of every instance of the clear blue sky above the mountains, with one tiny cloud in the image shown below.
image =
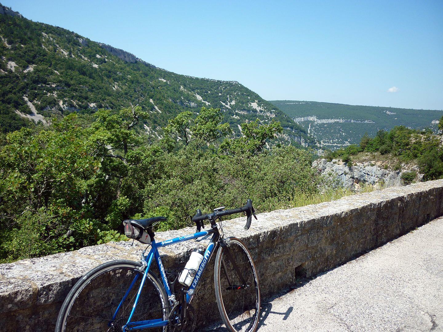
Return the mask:
<path id="1" fill-rule="evenodd" d="M 239 81 L 267 100 L 443 109 L 442 0 L 2 4 L 175 73 Z"/>

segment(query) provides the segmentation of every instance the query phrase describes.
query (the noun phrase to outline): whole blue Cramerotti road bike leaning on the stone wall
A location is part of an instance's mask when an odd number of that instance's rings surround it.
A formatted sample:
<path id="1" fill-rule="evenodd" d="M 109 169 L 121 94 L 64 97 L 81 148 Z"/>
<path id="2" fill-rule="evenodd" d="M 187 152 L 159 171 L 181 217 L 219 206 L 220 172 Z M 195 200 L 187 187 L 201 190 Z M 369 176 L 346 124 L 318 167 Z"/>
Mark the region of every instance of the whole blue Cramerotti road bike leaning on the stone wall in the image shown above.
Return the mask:
<path id="1" fill-rule="evenodd" d="M 214 252 L 217 252 L 215 297 L 225 328 L 235 332 L 256 331 L 260 316 L 256 268 L 245 244 L 236 237 L 225 238 L 221 224 L 222 216 L 240 212 L 246 213 L 245 229 L 249 229 L 252 216 L 256 218 L 251 200 L 232 210 L 223 207 L 205 215 L 197 210 L 192 218 L 197 224 L 196 233 L 158 243 L 153 228 L 165 217 L 125 220 L 125 234 L 148 243 L 140 262 L 114 260 L 86 273 L 63 302 L 55 331 L 193 331 L 196 315 L 190 303 Z M 211 227 L 202 231 L 206 219 Z M 212 238 L 202 262 L 191 285 L 183 286 L 178 282 L 179 273 L 165 271 L 158 248 L 206 235 Z M 159 277 L 153 271 L 153 261 Z"/>

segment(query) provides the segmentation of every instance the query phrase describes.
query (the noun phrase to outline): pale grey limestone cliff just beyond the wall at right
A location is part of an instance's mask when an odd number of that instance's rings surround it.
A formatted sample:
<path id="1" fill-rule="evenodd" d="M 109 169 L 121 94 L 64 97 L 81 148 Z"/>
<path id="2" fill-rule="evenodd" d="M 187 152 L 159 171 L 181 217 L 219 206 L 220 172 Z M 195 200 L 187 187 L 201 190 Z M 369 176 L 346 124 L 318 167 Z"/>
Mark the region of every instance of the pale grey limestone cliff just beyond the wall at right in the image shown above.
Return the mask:
<path id="1" fill-rule="evenodd" d="M 318 159 L 312 163 L 326 177 L 336 182 L 336 185 L 346 189 L 360 189 L 361 183 L 375 185 L 383 181 L 385 187 L 400 187 L 405 185 L 401 179 L 404 172 L 415 171 L 417 166 L 402 165 L 400 170 L 390 170 L 381 167 L 377 162 L 361 162 L 349 167 L 346 163 L 337 159 L 328 162 L 327 159 Z M 423 174 L 418 174 L 416 180 L 421 181 Z"/>

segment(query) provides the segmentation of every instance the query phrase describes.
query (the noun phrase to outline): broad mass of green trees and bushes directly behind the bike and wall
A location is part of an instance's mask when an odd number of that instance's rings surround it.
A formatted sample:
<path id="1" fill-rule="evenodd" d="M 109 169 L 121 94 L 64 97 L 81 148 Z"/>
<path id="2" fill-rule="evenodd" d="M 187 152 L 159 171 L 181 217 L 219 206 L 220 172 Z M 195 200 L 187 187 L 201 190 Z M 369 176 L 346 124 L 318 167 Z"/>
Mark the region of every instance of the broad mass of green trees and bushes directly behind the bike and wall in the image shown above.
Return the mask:
<path id="1" fill-rule="evenodd" d="M 226 138 L 221 111 L 202 108 L 165 128 L 178 137 L 186 124 L 186 141 L 151 142 L 136 126 L 147 114 L 139 105 L 100 109 L 90 123 L 73 113 L 0 137 L 1 262 L 123 239 L 130 217 L 167 216 L 158 227 L 166 230 L 192 225 L 196 208 L 252 198 L 257 211 L 269 211 L 319 195 L 323 179 L 310 153 L 265 148 L 282 131 L 276 121 L 249 121 L 244 135 Z"/>

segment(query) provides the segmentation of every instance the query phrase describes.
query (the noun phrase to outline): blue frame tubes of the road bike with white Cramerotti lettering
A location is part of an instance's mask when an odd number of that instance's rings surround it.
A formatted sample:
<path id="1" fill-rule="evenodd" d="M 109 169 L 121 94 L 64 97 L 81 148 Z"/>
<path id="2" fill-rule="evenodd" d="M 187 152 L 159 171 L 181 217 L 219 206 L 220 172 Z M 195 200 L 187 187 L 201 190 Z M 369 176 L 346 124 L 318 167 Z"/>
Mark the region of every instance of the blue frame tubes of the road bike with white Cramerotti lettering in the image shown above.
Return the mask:
<path id="1" fill-rule="evenodd" d="M 198 239 L 199 237 L 210 235 L 210 234 L 214 234 L 214 235 L 212 236 L 210 243 L 206 247 L 205 253 L 203 255 L 202 263 L 200 263 L 197 273 L 195 274 L 194 280 L 192 281 L 191 285 L 188 287 L 187 292 L 186 292 L 186 303 L 190 303 L 190 301 L 192 300 L 192 297 L 194 296 L 195 288 L 198 286 L 198 281 L 200 280 L 200 278 L 207 266 L 207 263 L 210 261 L 212 254 L 215 251 L 214 250 L 215 247 L 217 247 L 217 245 L 218 245 L 218 242 L 220 239 L 220 232 L 218 231 L 217 226 L 212 227 L 209 231 L 202 231 L 202 232 L 197 232 L 197 233 L 190 234 L 190 235 L 180 236 L 180 237 L 176 237 L 174 239 L 168 239 L 165 241 L 161 241 L 159 243 L 156 243 L 155 239 L 152 240 L 151 250 L 149 251 L 149 254 L 147 256 L 145 256 L 146 268 L 144 270 L 143 278 L 140 283 L 139 290 L 137 292 L 136 299 L 135 299 L 134 305 L 132 307 L 131 313 L 129 315 L 128 321 L 126 322 L 126 326 L 128 327 L 129 331 L 141 330 L 144 328 L 161 327 L 161 326 L 166 326 L 167 324 L 169 324 L 169 320 L 163 320 L 161 318 L 153 319 L 153 320 L 142 320 L 142 321 L 131 322 L 132 315 L 134 314 L 134 311 L 136 309 L 141 290 L 143 289 L 144 282 L 146 280 L 146 276 L 148 275 L 148 272 L 151 267 L 153 259 L 155 259 L 155 262 L 157 263 L 157 266 L 159 267 L 160 279 L 163 282 L 163 286 L 166 290 L 167 296 L 171 297 L 171 295 L 172 295 L 171 287 L 169 286 L 169 281 L 167 279 L 167 275 L 166 275 L 165 269 L 163 267 L 162 259 L 160 257 L 158 248 L 166 247 L 166 246 L 169 246 L 169 245 L 175 244 L 175 243 L 189 241 L 192 239 Z M 115 319 L 115 317 L 117 316 L 117 313 L 118 313 L 121 305 L 123 304 L 124 300 L 128 296 L 129 292 L 131 291 L 132 287 L 134 286 L 134 284 L 138 278 L 139 278 L 139 275 L 137 275 L 134 278 L 134 280 L 132 281 L 132 283 L 129 286 L 128 290 L 126 291 L 123 299 L 120 301 L 120 304 L 118 305 L 116 312 L 113 315 L 113 319 Z"/>

